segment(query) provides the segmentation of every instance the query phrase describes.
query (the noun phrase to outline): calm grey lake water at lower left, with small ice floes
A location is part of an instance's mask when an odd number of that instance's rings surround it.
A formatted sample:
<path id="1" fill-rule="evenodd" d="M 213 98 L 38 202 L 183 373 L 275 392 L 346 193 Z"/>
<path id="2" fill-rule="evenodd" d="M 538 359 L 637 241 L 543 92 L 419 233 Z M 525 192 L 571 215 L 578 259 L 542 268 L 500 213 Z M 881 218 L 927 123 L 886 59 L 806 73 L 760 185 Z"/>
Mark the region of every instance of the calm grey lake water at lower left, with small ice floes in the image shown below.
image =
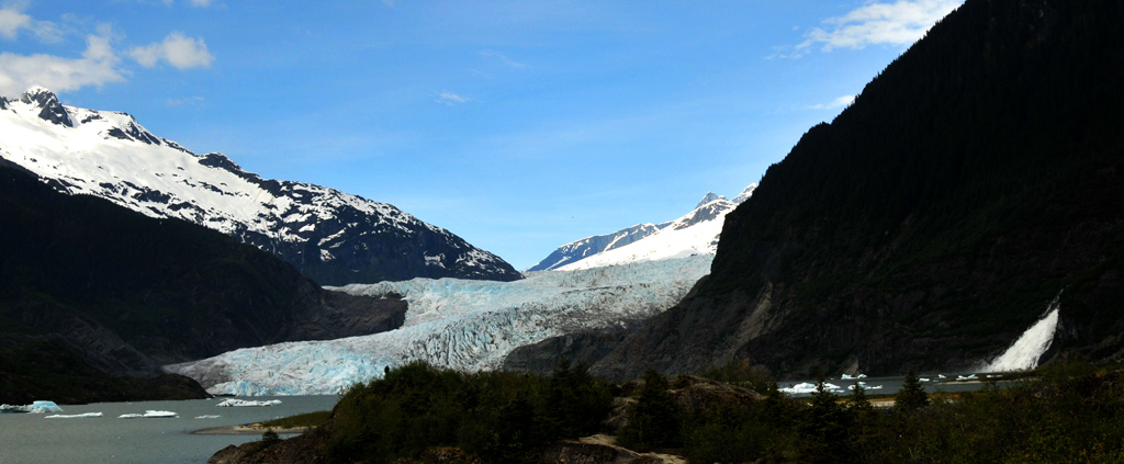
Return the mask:
<path id="1" fill-rule="evenodd" d="M 0 415 L 0 464 L 137 463 L 199 464 L 227 445 L 261 439 L 254 435 L 191 435 L 211 427 L 260 422 L 305 412 L 326 411 L 336 395 L 255 397 L 279 399 L 270 407 L 217 408 L 223 399 L 61 404 L 62 413 L 102 412 L 103 417 L 46 419 L 48 415 Z M 174 411 L 174 419 L 118 419 L 146 410 Z M 217 419 L 196 419 L 219 415 Z"/>

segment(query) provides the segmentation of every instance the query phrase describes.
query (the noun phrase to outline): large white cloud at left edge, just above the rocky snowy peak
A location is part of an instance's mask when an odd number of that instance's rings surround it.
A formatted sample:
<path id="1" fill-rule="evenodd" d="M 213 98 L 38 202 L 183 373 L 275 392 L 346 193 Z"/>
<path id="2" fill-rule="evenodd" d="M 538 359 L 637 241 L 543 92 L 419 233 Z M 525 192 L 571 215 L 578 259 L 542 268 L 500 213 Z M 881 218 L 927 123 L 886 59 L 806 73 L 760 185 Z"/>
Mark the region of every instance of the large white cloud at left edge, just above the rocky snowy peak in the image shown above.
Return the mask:
<path id="1" fill-rule="evenodd" d="M 88 36 L 85 52 L 76 60 L 0 53 L 0 94 L 18 95 L 35 85 L 66 92 L 88 85 L 123 82 L 124 72 L 117 67 L 119 62 L 109 37 L 105 35 Z"/>

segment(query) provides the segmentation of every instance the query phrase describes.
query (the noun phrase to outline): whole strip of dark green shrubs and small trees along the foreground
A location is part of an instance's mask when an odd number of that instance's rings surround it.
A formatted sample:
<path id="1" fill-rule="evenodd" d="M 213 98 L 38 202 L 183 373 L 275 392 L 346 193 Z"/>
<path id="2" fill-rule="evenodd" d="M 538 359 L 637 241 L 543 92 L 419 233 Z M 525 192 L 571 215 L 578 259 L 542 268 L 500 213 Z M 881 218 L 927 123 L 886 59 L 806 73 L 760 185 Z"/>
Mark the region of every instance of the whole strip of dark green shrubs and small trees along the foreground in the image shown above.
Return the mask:
<path id="1" fill-rule="evenodd" d="M 907 389 L 898 407 L 883 409 L 863 389 L 841 397 L 823 382 L 807 399 L 785 397 L 774 382 L 759 397 L 705 393 L 735 390 L 683 376 L 669 385 L 647 371 L 628 424 L 614 430 L 604 420 L 618 413 L 610 397 L 622 390 L 582 366 L 562 363 L 542 377 L 414 363 L 347 391 L 321 433 L 333 463 L 419 458 L 436 447 L 484 463 L 529 463 L 551 442 L 595 433 L 691 463 L 1124 462 L 1124 371 L 1087 363 L 932 402 Z"/>

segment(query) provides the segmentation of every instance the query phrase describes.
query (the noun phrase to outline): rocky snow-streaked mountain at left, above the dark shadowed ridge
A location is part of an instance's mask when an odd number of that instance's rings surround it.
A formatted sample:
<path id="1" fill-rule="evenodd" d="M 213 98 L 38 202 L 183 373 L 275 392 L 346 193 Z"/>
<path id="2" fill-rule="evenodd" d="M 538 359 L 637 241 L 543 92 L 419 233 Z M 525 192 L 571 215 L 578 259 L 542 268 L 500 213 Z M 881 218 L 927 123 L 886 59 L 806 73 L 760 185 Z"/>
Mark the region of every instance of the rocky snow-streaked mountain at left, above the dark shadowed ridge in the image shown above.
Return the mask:
<path id="1" fill-rule="evenodd" d="M 197 155 L 155 136 L 127 113 L 64 106 L 43 88 L 0 98 L 0 157 L 58 190 L 236 236 L 323 284 L 520 278 L 498 256 L 391 204 L 261 179 L 219 153 Z"/>

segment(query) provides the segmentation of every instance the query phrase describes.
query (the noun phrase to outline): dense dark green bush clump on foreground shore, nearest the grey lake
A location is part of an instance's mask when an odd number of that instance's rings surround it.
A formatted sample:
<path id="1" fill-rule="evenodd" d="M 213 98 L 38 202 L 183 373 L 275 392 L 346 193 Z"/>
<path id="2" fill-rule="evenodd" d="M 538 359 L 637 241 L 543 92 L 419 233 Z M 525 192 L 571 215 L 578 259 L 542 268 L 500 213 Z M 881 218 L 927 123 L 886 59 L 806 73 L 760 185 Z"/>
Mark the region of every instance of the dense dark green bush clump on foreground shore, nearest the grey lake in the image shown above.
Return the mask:
<path id="1" fill-rule="evenodd" d="M 488 463 L 531 462 L 549 440 L 598 431 L 611 399 L 611 385 L 583 365 L 563 362 L 541 377 L 464 374 L 416 362 L 344 393 L 327 457 L 383 463 L 448 446 Z"/>

